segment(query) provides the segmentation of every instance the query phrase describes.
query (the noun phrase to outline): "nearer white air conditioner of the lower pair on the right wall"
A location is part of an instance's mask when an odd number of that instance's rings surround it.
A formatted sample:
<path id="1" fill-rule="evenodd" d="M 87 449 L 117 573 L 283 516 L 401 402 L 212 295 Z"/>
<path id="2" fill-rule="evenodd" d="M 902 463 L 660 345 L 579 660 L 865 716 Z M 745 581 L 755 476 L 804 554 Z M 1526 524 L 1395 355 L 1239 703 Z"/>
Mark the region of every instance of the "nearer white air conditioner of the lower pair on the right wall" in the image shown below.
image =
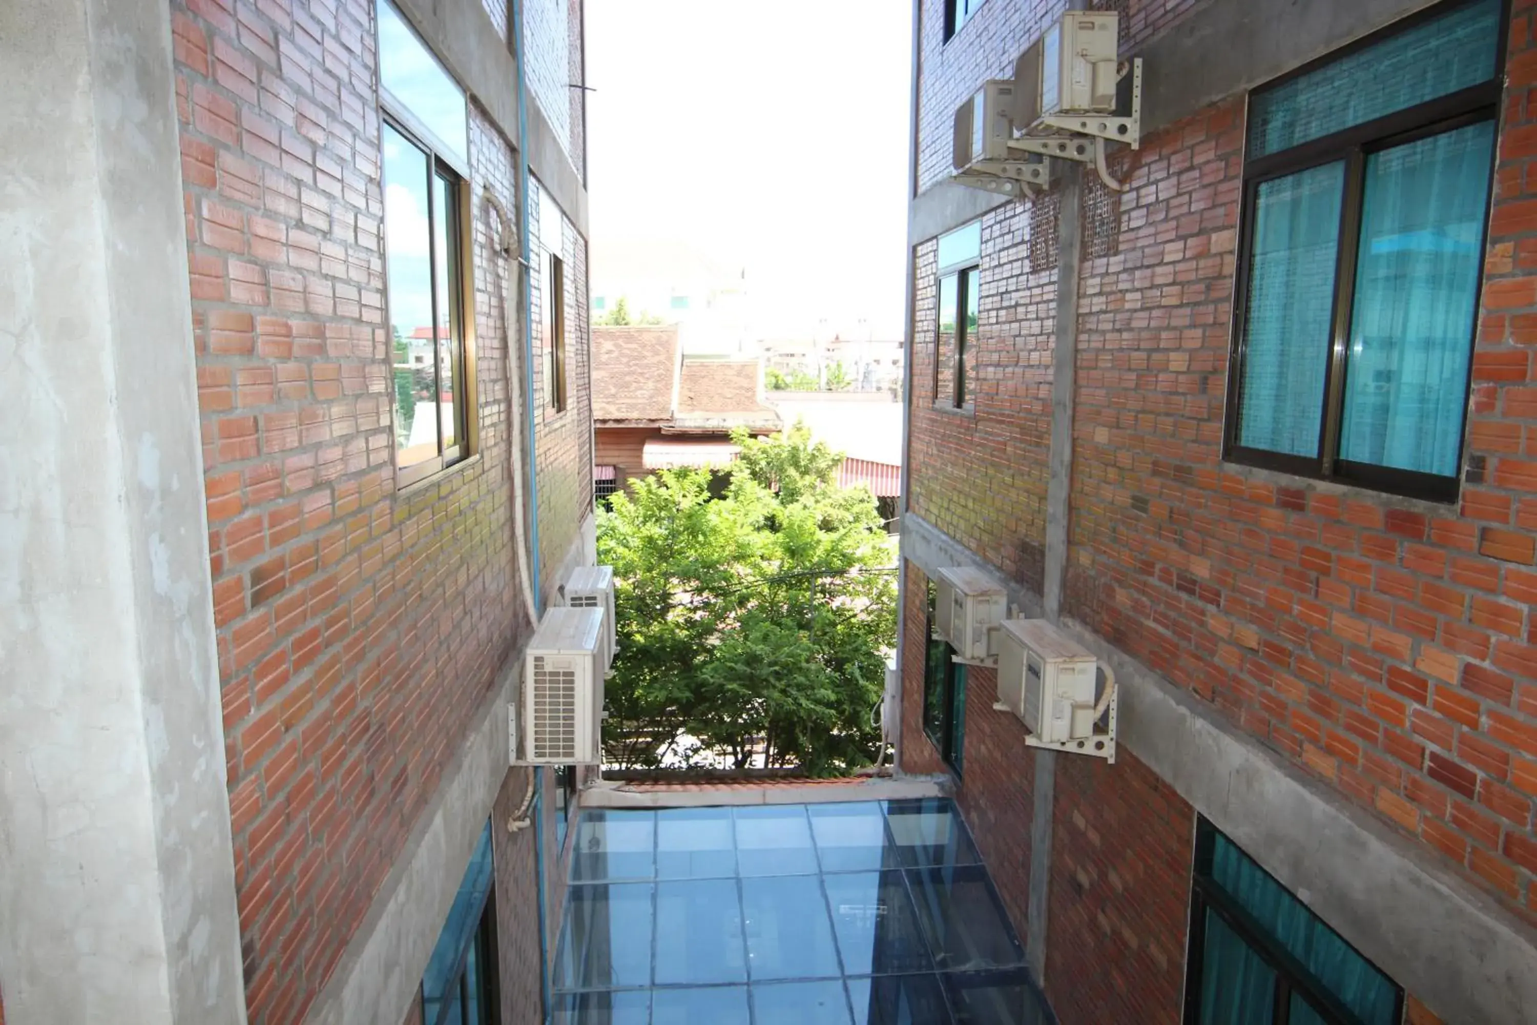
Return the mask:
<path id="1" fill-rule="evenodd" d="M 1031 747 L 1116 761 L 1116 678 L 1045 619 L 1007 619 L 998 632 L 998 708 L 1024 721 Z M 1099 725 L 1099 719 L 1105 724 Z"/>

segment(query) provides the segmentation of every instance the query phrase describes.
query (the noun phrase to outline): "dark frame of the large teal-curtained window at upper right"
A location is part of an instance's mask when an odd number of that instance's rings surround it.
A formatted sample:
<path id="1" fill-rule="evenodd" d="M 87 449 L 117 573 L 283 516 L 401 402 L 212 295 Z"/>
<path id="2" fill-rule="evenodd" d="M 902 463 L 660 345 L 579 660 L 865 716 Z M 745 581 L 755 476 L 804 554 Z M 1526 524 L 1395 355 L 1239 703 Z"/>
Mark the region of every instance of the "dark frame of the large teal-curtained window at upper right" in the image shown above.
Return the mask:
<path id="1" fill-rule="evenodd" d="M 1479 0 L 1445 0 L 1423 11 L 1406 15 L 1363 38 L 1330 51 L 1322 57 L 1296 68 L 1285 75 L 1250 91 L 1245 106 L 1245 135 L 1253 112 L 1254 97 L 1277 89 L 1288 81 L 1326 68 L 1362 49 L 1406 32 L 1431 18 L 1442 17 L 1457 8 L 1472 6 Z M 1242 174 L 1242 198 L 1239 207 L 1237 266 L 1233 277 L 1233 324 L 1228 340 L 1228 381 L 1223 400 L 1222 458 L 1228 463 L 1276 470 L 1314 481 L 1328 481 L 1362 487 L 1389 495 L 1420 498 L 1434 503 L 1456 503 L 1462 490 L 1462 466 L 1468 443 L 1468 404 L 1472 393 L 1472 363 L 1469 352 L 1468 380 L 1462 396 L 1462 435 L 1457 447 L 1457 473 L 1439 476 L 1420 470 L 1353 463 L 1339 455 L 1340 430 L 1345 420 L 1345 378 L 1348 373 L 1348 349 L 1351 315 L 1356 298 L 1356 266 L 1360 252 L 1362 207 L 1365 201 L 1366 158 L 1371 154 L 1405 146 L 1423 138 L 1494 121 L 1494 160 L 1499 168 L 1500 104 L 1505 81 L 1505 46 L 1509 34 L 1509 0 L 1500 3 L 1500 34 L 1497 41 L 1494 74 L 1485 83 L 1419 103 L 1403 111 L 1385 114 L 1371 121 L 1351 124 L 1322 138 L 1308 140 L 1290 149 L 1263 157 L 1248 157 L 1245 152 Z M 1247 144 L 1247 140 L 1245 140 Z M 1243 360 L 1248 321 L 1248 286 L 1253 264 L 1256 204 L 1259 187 L 1266 181 L 1285 178 L 1330 163 L 1343 163 L 1343 195 L 1340 201 L 1339 247 L 1334 263 L 1333 306 L 1330 310 L 1330 352 L 1323 372 L 1323 401 L 1319 426 L 1319 455 L 1302 456 L 1266 449 L 1253 449 L 1239 443 L 1239 409 L 1242 406 Z M 1488 183 L 1485 198 L 1483 231 L 1479 238 L 1479 272 L 1474 294 L 1474 317 L 1468 324 L 1469 350 L 1477 343 L 1479 320 L 1483 298 L 1483 267 L 1488 252 L 1489 211 L 1492 206 L 1494 175 Z"/>

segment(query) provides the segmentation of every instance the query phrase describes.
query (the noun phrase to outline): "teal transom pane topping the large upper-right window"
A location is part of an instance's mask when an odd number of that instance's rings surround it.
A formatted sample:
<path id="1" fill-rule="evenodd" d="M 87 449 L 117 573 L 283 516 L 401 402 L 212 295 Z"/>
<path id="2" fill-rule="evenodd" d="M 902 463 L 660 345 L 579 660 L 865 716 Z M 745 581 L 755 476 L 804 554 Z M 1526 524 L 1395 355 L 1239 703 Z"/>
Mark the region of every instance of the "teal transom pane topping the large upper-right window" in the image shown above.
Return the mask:
<path id="1" fill-rule="evenodd" d="M 1250 100 L 1250 160 L 1494 77 L 1499 0 L 1448 11 Z"/>

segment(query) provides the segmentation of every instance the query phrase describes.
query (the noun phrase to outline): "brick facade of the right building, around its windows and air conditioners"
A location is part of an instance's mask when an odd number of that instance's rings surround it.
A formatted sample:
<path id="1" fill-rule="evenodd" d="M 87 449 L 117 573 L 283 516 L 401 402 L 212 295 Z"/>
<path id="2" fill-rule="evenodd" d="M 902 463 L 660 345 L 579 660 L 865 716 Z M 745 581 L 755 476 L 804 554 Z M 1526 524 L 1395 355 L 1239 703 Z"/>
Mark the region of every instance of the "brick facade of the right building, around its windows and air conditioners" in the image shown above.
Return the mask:
<path id="1" fill-rule="evenodd" d="M 942 46 L 942 5 L 925 0 L 919 191 L 948 171 L 954 106 L 1061 6 L 984 5 Z M 1191 5 L 1114 6 L 1134 49 Z M 1460 503 L 1222 459 L 1237 95 L 1122 155 L 1130 189 L 1113 238 L 1096 249 L 1085 237 L 1064 612 L 1537 922 L 1537 40 L 1532 6 L 1512 6 Z M 1005 203 L 982 218 L 974 410 L 934 407 L 936 247 L 913 250 L 908 503 L 1041 593 L 1056 274 L 1033 269 L 1030 214 Z M 904 765 L 934 771 L 921 727 L 922 575 L 908 566 L 905 579 Z M 958 799 L 984 848 L 1019 850 L 1028 810 L 993 816 L 984 794 L 994 775 L 1017 775 L 1022 727 L 994 738 L 993 696 L 974 693 L 984 675 L 973 670 Z M 1007 770 L 990 764 L 996 751 Z M 1130 750 L 1114 767 L 1062 758 L 1056 787 L 1047 990 L 1057 1013 L 1177 1020 L 1194 810 Z M 994 865 L 1001 890 L 1014 871 Z M 1434 1016 L 1411 999 L 1408 1020 Z"/>

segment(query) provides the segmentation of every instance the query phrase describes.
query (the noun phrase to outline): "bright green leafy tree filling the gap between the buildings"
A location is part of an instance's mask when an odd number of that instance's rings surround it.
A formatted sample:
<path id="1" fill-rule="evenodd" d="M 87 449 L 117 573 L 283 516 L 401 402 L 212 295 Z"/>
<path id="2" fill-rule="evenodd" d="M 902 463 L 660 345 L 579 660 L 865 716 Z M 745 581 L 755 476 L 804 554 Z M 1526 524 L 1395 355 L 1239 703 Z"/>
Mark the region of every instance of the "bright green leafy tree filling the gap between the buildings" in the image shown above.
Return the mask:
<path id="1" fill-rule="evenodd" d="M 607 756 L 813 773 L 868 764 L 896 630 L 875 498 L 838 487 L 842 456 L 801 424 L 733 441 L 724 496 L 710 496 L 707 472 L 667 470 L 599 512 L 619 633 Z"/>

